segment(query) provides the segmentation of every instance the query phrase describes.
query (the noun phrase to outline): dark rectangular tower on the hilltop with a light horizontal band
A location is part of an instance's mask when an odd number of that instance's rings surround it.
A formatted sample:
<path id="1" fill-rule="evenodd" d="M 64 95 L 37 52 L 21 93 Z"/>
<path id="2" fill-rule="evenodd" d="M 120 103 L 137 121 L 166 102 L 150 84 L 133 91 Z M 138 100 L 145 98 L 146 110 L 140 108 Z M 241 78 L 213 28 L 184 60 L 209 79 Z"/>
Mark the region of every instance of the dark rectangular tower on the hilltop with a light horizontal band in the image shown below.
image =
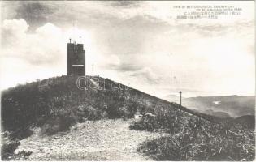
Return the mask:
<path id="1" fill-rule="evenodd" d="M 67 75 L 85 76 L 85 50 L 83 44 L 67 43 Z"/>

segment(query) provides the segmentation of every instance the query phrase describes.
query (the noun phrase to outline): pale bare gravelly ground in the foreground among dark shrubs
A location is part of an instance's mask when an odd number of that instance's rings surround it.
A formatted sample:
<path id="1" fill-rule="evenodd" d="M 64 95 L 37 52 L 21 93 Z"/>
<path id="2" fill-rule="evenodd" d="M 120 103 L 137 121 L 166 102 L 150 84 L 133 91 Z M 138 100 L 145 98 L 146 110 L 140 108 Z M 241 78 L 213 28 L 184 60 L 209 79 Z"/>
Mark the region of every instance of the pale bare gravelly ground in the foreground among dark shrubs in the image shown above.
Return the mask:
<path id="1" fill-rule="evenodd" d="M 29 160 L 150 160 L 137 152 L 139 143 L 159 136 L 129 130 L 130 121 L 102 120 L 79 123 L 66 133 L 22 140 L 15 152 L 33 151 Z"/>

